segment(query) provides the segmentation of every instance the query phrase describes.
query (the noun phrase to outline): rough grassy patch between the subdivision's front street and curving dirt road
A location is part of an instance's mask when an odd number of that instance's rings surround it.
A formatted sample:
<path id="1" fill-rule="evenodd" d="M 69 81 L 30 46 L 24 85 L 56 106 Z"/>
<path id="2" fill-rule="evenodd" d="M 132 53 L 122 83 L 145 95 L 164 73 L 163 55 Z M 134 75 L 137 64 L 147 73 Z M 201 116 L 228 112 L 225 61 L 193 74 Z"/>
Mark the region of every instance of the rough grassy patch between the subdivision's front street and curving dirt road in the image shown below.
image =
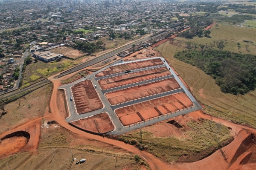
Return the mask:
<path id="1" fill-rule="evenodd" d="M 180 156 L 183 155 L 186 155 L 187 157 L 194 156 L 195 153 L 200 153 L 211 147 L 218 147 L 219 144 L 231 138 L 227 127 L 205 119 L 202 121 L 190 120 L 186 122 L 186 124 L 182 124 L 183 127 L 181 129 L 175 128 L 175 133 L 178 133 L 179 135 L 170 134 L 170 137 L 168 135 L 159 137 L 151 132 L 157 132 L 157 130 L 154 129 L 156 126 L 163 127 L 161 128 L 161 131 L 165 131 L 164 128 L 171 130 L 172 127 L 170 126 L 173 125 L 166 122 L 167 121 L 163 121 L 154 126 L 143 127 L 142 144 L 149 153 L 152 153 L 167 162 L 177 161 Z M 209 127 L 209 122 L 212 123 L 212 129 Z M 218 140 L 216 140 L 216 138 L 218 138 Z M 140 130 L 134 130 L 119 135 L 118 139 L 139 147 Z M 209 154 L 209 151 L 205 151 L 205 153 Z M 201 157 L 198 156 L 194 161 L 201 159 L 204 154 L 201 153 Z"/>

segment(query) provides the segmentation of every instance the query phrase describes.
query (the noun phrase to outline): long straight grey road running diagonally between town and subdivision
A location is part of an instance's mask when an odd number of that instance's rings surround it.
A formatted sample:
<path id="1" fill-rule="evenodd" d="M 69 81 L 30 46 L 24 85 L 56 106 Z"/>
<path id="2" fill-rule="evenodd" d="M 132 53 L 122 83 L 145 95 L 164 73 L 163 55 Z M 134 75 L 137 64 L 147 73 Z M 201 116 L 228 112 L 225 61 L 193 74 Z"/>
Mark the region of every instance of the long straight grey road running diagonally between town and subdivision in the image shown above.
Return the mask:
<path id="1" fill-rule="evenodd" d="M 170 31 L 172 31 L 172 29 L 171 29 Z M 129 43 L 129 44 L 126 45 L 126 46 L 122 46 L 122 47 L 119 47 L 118 49 L 114 49 L 113 51 L 111 51 L 111 52 L 109 52 L 109 53 L 107 53 L 107 54 L 105 54 L 105 55 L 102 55 L 102 56 L 99 56 L 99 57 L 97 57 L 97 58 L 94 58 L 93 60 L 90 60 L 90 61 L 88 61 L 88 62 L 86 62 L 86 63 L 81 63 L 81 64 L 79 64 L 79 65 L 77 65 L 77 66 L 74 66 L 74 67 L 72 67 L 71 69 L 69 69 L 69 70 L 67 70 L 67 71 L 65 71 L 65 72 L 62 72 L 60 75 L 56 76 L 56 78 L 60 78 L 60 77 L 62 77 L 62 76 L 64 76 L 64 75 L 68 75 L 68 74 L 70 74 L 70 73 L 76 72 L 76 71 L 78 71 L 78 70 L 80 70 L 80 69 L 83 69 L 83 68 L 85 68 L 85 67 L 94 65 L 94 64 L 99 63 L 99 62 L 101 62 L 101 61 L 103 61 L 103 60 L 106 60 L 106 59 L 108 59 L 108 58 L 111 58 L 111 57 L 112 57 L 113 55 L 115 55 L 115 54 L 118 54 L 118 53 L 120 53 L 120 52 L 123 52 L 123 51 L 125 51 L 125 50 L 127 50 L 127 49 L 132 48 L 132 44 L 139 45 L 141 42 L 144 43 L 144 42 L 146 42 L 146 41 L 148 41 L 148 40 L 154 39 L 154 38 L 156 38 L 156 37 L 160 37 L 161 35 L 164 35 L 164 34 L 167 34 L 167 33 L 168 33 L 168 32 L 162 32 L 162 33 L 160 33 L 160 34 L 158 34 L 158 35 L 154 35 L 154 36 L 152 36 L 152 37 L 145 37 L 145 38 L 143 38 L 143 39 L 137 40 L 136 42 Z"/>

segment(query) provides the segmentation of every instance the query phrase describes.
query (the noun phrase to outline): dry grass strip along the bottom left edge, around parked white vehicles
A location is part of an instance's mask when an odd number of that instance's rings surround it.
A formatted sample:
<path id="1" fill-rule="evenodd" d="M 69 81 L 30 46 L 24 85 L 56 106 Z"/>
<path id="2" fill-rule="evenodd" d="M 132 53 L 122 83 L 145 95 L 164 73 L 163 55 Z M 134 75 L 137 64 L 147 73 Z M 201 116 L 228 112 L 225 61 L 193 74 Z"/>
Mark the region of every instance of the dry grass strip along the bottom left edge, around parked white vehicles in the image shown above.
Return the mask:
<path id="1" fill-rule="evenodd" d="M 106 156 L 103 154 L 96 154 L 85 152 L 82 150 L 72 150 L 73 156 L 77 160 L 86 158 L 86 162 L 76 165 L 76 161 L 73 162 L 72 170 L 122 170 L 125 167 L 128 169 L 136 169 L 139 165 L 134 160 L 116 158 Z M 68 169 L 72 157 L 70 155 L 70 149 L 67 148 L 55 148 L 55 156 L 53 157 L 52 148 L 40 149 L 37 155 L 31 155 L 29 152 L 19 153 L 9 158 L 5 158 L 0 162 L 1 170 L 9 170 L 6 163 L 13 169 L 17 170 L 64 170 Z M 51 161 L 52 160 L 52 161 Z"/>

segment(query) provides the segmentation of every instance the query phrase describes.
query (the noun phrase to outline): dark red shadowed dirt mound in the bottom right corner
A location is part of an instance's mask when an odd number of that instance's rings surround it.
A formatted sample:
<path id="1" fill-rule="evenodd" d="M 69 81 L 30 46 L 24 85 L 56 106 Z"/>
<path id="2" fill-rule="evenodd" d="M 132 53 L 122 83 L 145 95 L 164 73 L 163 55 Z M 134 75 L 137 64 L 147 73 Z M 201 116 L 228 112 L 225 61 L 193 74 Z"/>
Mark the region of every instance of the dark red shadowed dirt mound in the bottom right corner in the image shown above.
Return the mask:
<path id="1" fill-rule="evenodd" d="M 256 137 L 254 134 L 250 134 L 247 136 L 247 138 L 245 138 L 242 143 L 240 144 L 240 146 L 238 147 L 238 149 L 236 150 L 235 155 L 233 156 L 233 158 L 230 161 L 230 165 L 232 165 L 238 158 L 239 156 L 241 156 L 242 154 L 244 154 L 245 152 L 247 152 L 248 150 L 251 150 L 251 148 L 255 148 L 256 146 Z M 255 157 L 251 157 L 252 155 L 256 155 L 256 151 L 252 151 L 251 155 L 248 154 L 242 161 L 241 164 L 246 164 L 248 161 L 254 161 Z"/>

